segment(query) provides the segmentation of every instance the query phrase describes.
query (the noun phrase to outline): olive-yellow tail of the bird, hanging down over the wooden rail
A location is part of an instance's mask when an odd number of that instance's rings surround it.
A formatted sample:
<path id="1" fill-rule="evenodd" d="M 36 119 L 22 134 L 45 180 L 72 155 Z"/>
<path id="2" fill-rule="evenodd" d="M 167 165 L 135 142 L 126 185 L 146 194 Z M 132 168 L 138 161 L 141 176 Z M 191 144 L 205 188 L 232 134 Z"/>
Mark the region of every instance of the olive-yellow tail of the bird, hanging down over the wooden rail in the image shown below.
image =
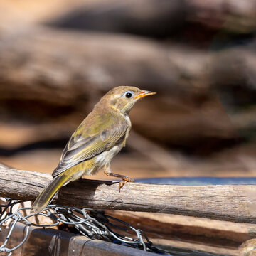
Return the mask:
<path id="1" fill-rule="evenodd" d="M 43 191 L 39 194 L 36 198 L 36 201 L 33 202 L 31 207 L 31 212 L 33 213 L 40 213 L 48 203 L 53 200 L 55 194 L 58 192 L 61 186 L 68 181 L 70 175 L 59 175 L 55 176 L 50 183 L 43 189 Z"/>

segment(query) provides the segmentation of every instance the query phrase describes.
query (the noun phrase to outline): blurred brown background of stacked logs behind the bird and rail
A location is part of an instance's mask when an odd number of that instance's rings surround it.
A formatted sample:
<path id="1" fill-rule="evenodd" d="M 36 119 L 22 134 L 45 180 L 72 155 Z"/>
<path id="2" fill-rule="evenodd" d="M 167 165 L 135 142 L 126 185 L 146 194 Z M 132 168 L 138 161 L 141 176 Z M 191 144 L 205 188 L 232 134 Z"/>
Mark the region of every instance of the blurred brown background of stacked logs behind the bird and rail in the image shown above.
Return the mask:
<path id="1" fill-rule="evenodd" d="M 1 0 L 0 9 L 0 161 L 51 173 L 100 97 L 132 85 L 157 95 L 130 113 L 112 171 L 256 175 L 255 0 Z"/>

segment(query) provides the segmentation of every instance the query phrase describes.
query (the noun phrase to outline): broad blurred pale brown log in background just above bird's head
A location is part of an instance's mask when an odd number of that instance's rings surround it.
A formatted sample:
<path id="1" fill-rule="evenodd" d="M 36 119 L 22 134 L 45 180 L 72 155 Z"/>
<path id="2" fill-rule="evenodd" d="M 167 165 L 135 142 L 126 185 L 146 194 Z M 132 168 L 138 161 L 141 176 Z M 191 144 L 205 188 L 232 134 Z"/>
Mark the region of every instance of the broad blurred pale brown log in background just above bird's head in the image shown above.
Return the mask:
<path id="1" fill-rule="evenodd" d="M 210 85 L 229 85 L 247 77 L 241 67 L 255 60 L 247 46 L 218 54 L 136 36 L 79 33 L 20 20 L 9 26 L 8 21 L 1 20 L 0 27 L 1 83 L 8 85 L 0 88 L 1 99 L 70 106 L 124 84 L 192 97 L 207 93 Z M 16 23 L 21 24 L 19 29 Z M 238 66 L 230 67 L 234 61 Z"/>

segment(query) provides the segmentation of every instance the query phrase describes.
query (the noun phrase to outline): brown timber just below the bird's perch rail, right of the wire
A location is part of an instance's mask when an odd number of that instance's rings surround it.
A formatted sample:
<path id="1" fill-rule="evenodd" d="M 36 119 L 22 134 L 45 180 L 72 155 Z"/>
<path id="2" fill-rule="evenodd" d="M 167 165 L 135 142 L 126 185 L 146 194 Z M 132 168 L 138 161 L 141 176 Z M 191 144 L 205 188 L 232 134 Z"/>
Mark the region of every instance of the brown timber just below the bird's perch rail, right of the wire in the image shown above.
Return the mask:
<path id="1" fill-rule="evenodd" d="M 223 255 L 229 255 L 225 253 L 227 247 L 236 249 L 242 242 L 256 238 L 256 225 L 249 223 L 232 223 L 163 213 L 124 212 L 123 210 L 105 210 L 105 214 L 124 220 L 134 228 L 144 230 L 150 240 L 164 239 L 161 243 L 163 245 L 166 240 L 173 240 L 197 243 L 197 250 L 203 250 L 200 245 L 210 245 L 215 249 L 218 246 L 223 247 L 223 252 L 219 252 Z M 216 251 L 213 249 L 211 252 Z"/>

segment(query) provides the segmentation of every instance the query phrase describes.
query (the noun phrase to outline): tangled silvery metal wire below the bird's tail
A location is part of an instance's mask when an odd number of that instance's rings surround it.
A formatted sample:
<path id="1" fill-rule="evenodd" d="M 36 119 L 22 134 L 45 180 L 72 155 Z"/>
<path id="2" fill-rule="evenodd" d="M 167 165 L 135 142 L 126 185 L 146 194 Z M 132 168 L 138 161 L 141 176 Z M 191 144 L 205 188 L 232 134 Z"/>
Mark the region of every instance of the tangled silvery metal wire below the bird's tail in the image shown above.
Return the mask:
<path id="1" fill-rule="evenodd" d="M 53 227 L 60 225 L 60 223 L 73 225 L 81 235 L 85 235 L 87 238 L 107 240 L 108 242 L 115 242 L 120 245 L 129 245 L 144 251 L 166 254 L 164 250 L 159 250 L 156 247 L 153 247 L 152 242 L 149 241 L 149 238 L 146 237 L 142 230 L 133 228 L 122 220 L 105 215 L 103 211 L 52 204 L 47 206 L 41 213 L 23 215 L 22 212 L 24 210 L 30 210 L 31 207 L 21 207 L 14 211 L 14 206 L 18 203 L 23 203 L 23 201 L 12 200 L 10 198 L 6 198 L 6 200 L 7 202 L 5 205 L 0 205 L 0 231 L 1 226 L 8 221 L 11 222 L 11 228 L 9 229 L 9 233 L 6 235 L 6 240 L 4 240 L 3 245 L 0 246 L 0 252 L 7 252 L 9 253 L 8 256 L 11 256 L 12 252 L 14 252 L 18 247 L 21 247 L 21 245 L 26 241 L 28 238 L 29 227 Z M 43 215 L 46 218 L 50 218 L 53 220 L 53 224 L 31 223 L 28 218 L 35 215 Z M 117 224 L 111 223 L 111 220 L 114 220 L 114 223 Z M 14 227 L 18 222 L 26 225 L 25 236 L 18 245 L 9 248 L 9 238 L 11 237 L 11 233 L 13 233 Z M 134 238 L 114 232 L 112 228 L 122 230 L 122 233 L 129 232 L 130 234 L 132 232 L 134 234 Z"/>

